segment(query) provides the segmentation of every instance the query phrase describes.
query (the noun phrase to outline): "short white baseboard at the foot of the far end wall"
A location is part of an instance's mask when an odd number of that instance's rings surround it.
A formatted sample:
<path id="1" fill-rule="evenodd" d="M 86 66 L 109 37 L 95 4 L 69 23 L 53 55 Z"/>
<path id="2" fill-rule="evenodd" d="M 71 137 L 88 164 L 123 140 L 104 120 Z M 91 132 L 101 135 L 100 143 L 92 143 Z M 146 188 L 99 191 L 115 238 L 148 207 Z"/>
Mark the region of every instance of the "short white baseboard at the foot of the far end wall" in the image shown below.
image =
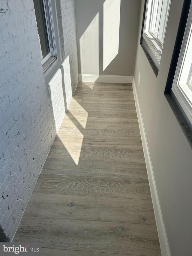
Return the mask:
<path id="1" fill-rule="evenodd" d="M 132 83 L 132 76 L 112 76 L 112 75 L 82 75 L 79 74 L 80 82 L 100 82 L 100 83 Z"/>

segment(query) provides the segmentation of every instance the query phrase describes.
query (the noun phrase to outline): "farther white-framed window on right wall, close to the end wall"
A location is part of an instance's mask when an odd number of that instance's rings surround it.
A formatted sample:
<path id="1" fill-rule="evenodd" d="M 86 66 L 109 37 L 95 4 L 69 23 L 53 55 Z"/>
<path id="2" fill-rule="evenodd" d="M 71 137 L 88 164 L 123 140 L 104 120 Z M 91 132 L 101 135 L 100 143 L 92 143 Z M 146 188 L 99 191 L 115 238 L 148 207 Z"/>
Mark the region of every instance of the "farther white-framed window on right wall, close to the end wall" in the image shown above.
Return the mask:
<path id="1" fill-rule="evenodd" d="M 169 9 L 170 0 L 147 0 L 143 38 L 158 64 L 161 59 Z M 153 56 L 150 53 L 149 55 L 153 60 Z"/>

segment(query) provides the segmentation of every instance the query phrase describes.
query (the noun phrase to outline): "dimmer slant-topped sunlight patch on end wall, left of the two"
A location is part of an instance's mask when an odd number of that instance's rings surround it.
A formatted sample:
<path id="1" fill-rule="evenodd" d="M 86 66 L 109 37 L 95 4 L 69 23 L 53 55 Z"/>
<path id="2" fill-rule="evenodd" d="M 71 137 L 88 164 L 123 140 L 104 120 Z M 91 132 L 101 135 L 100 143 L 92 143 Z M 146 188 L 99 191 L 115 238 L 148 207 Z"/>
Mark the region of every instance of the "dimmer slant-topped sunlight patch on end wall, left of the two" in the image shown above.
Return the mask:
<path id="1" fill-rule="evenodd" d="M 99 13 L 79 39 L 81 74 L 99 74 Z"/>

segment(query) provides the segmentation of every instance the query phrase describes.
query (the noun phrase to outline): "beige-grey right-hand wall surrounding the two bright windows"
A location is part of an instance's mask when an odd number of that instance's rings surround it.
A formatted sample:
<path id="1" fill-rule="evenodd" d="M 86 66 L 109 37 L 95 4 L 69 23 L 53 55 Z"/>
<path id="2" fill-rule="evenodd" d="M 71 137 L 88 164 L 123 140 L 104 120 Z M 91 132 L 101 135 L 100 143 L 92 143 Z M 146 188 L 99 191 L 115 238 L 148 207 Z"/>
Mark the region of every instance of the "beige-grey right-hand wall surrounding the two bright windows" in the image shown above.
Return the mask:
<path id="1" fill-rule="evenodd" d="M 188 256 L 192 252 L 192 150 L 164 96 L 182 5 L 183 0 L 171 1 L 160 68 L 156 77 L 139 44 L 144 8 L 142 0 L 134 68 L 134 80 L 158 197 L 173 256 Z"/>

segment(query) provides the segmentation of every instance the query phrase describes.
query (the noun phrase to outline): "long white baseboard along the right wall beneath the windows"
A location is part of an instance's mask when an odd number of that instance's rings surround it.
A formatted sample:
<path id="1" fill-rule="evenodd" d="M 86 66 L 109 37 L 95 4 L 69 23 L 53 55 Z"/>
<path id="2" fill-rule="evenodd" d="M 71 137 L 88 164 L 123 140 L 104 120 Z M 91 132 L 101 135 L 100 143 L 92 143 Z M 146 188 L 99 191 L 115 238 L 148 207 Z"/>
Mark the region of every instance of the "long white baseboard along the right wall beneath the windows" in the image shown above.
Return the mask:
<path id="1" fill-rule="evenodd" d="M 150 186 L 150 190 L 151 190 L 153 208 L 154 208 L 154 213 L 155 213 L 155 220 L 156 220 L 156 224 L 157 224 L 159 242 L 160 242 L 160 247 L 161 247 L 161 254 L 162 254 L 162 256 L 171 256 L 169 243 L 168 243 L 168 239 L 167 239 L 167 233 L 165 230 L 165 225 L 164 225 L 164 220 L 163 220 L 163 215 L 161 212 L 161 206 L 160 206 L 160 202 L 159 202 L 159 198 L 158 198 L 158 192 L 157 192 L 157 187 L 156 187 L 156 183 L 155 183 L 155 176 L 154 176 L 154 172 L 153 172 L 153 166 L 152 166 L 149 147 L 148 147 L 148 143 L 147 143 L 147 137 L 146 137 L 145 127 L 143 124 L 143 118 L 142 118 L 140 104 L 139 104 L 139 100 L 138 100 L 138 96 L 137 96 L 137 89 L 136 89 L 134 77 L 133 77 L 133 81 L 132 81 L 132 86 L 133 86 L 134 99 L 135 99 L 135 105 L 136 105 L 136 110 L 137 110 L 137 117 L 138 117 L 138 121 L 139 121 L 141 140 L 142 140 L 142 144 L 143 144 L 143 152 L 144 152 L 145 161 L 146 161 L 149 186 Z"/>

